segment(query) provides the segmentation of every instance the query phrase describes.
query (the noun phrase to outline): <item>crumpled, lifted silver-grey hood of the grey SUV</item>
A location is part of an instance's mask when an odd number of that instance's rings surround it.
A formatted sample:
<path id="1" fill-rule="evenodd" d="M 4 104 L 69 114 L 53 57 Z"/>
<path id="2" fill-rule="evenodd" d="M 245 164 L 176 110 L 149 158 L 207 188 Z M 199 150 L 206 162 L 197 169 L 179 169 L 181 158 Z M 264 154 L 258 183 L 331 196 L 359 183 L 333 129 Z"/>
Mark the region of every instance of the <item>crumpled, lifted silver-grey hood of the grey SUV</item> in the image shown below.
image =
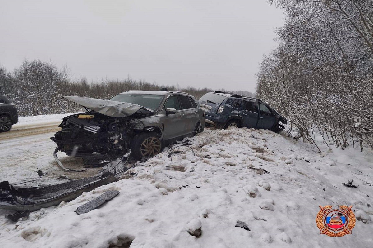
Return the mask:
<path id="1" fill-rule="evenodd" d="M 123 103 L 81 96 L 63 96 L 62 98 L 86 107 L 87 109 L 112 117 L 130 116 L 138 110 L 145 110 L 147 111 L 146 113 L 153 112 L 151 109 L 133 103 Z"/>

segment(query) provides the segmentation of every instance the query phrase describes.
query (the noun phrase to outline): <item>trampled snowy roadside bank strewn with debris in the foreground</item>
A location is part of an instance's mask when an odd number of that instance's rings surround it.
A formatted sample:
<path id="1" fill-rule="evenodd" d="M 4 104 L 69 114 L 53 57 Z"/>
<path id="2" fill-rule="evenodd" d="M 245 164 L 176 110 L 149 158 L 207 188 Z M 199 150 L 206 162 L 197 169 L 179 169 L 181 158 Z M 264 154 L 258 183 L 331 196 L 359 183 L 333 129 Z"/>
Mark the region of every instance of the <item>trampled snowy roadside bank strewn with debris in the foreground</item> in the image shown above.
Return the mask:
<path id="1" fill-rule="evenodd" d="M 54 166 L 54 147 L 45 136 L 22 147 L 39 144 L 35 157 L 44 154 L 40 162 L 47 168 Z M 285 135 L 247 128 L 206 129 L 191 140 L 193 151 L 180 146 L 175 150 L 184 154 L 167 157 L 170 151 L 165 150 L 128 171 L 136 173 L 129 179 L 33 212 L 17 223 L 6 220 L 1 211 L 1 244 L 106 248 L 133 240 L 131 247 L 372 247 L 370 155 L 338 148 L 328 153 L 321 144 L 320 154 L 310 144 Z M 9 161 L 17 153 L 13 149 Z M 1 165 L 2 173 L 6 170 Z M 351 179 L 358 188 L 342 185 Z M 89 213 L 74 212 L 107 190 L 120 194 Z M 352 234 L 320 235 L 319 205 L 338 204 L 353 206 L 358 221 Z M 236 220 L 247 223 L 251 231 L 235 227 Z M 202 235 L 195 238 L 188 229 L 199 225 Z"/>

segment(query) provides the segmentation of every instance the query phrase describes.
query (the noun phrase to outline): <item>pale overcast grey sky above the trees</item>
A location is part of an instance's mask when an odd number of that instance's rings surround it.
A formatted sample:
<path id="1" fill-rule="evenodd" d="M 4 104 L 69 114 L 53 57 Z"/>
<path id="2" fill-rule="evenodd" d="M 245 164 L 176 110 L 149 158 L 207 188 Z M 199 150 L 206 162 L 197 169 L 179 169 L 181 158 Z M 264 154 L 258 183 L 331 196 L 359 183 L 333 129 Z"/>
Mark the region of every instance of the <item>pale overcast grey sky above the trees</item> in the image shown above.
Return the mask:
<path id="1" fill-rule="evenodd" d="M 90 81 L 254 91 L 283 23 L 266 0 L 0 1 L 0 65 L 51 59 Z"/>

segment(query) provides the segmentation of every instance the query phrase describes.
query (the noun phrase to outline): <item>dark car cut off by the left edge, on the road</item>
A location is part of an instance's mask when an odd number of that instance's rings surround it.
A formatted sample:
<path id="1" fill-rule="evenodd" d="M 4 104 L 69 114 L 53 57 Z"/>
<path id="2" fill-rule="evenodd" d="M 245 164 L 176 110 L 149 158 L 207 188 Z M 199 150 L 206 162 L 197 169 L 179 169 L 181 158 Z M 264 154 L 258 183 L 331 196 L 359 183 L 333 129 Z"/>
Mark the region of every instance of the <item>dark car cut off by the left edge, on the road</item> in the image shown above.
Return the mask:
<path id="1" fill-rule="evenodd" d="M 0 95 L 0 133 L 7 132 L 18 122 L 18 111 L 6 96 Z"/>

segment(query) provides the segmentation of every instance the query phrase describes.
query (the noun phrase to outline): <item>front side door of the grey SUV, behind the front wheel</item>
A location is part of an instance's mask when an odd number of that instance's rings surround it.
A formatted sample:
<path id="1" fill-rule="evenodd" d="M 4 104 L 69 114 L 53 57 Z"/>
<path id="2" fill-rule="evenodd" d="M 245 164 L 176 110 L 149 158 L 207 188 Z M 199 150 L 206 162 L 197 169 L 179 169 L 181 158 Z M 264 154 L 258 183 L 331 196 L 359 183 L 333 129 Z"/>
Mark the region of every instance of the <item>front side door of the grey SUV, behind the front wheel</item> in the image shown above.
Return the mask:
<path id="1" fill-rule="evenodd" d="M 185 132 L 185 121 L 184 121 L 184 111 L 181 109 L 181 104 L 177 95 L 169 96 L 164 103 L 163 110 L 168 108 L 176 109 L 176 113 L 173 115 L 167 115 L 164 117 L 163 121 L 163 139 L 170 140 L 176 139 L 177 137 L 183 135 Z"/>

